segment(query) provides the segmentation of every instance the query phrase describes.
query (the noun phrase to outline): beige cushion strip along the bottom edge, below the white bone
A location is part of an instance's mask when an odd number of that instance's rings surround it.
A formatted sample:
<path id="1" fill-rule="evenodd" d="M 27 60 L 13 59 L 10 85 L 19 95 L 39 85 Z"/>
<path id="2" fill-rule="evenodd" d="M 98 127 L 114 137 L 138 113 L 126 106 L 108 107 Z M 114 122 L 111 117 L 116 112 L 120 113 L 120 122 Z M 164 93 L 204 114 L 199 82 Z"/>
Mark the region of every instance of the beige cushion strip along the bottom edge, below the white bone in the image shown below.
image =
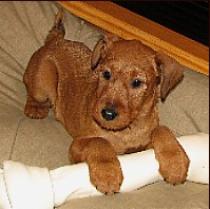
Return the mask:
<path id="1" fill-rule="evenodd" d="M 138 191 L 115 196 L 75 199 L 62 209 L 207 209 L 208 186 L 186 183 L 171 186 L 155 183 Z"/>

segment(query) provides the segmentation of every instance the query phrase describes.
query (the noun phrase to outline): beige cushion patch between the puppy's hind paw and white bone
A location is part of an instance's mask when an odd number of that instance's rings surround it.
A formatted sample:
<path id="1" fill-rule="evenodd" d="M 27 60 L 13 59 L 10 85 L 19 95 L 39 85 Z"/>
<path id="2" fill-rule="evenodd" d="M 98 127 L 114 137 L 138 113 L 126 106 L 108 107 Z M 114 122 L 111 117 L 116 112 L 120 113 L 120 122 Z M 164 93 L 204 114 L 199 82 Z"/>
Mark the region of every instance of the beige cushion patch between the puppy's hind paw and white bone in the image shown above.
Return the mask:
<path id="1" fill-rule="evenodd" d="M 69 164 L 68 149 L 72 138 L 52 117 L 19 124 L 11 159 L 49 169 Z"/>

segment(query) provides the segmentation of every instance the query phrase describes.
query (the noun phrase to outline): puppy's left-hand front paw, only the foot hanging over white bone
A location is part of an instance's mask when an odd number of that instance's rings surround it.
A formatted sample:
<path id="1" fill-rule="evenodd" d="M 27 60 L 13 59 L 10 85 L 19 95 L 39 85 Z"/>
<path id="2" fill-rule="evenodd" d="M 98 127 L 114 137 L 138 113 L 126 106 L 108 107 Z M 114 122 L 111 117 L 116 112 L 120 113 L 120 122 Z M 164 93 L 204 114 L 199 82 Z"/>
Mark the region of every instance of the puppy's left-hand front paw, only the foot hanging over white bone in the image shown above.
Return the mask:
<path id="1" fill-rule="evenodd" d="M 97 190 L 105 194 L 119 192 L 123 175 L 118 159 L 92 161 L 89 164 L 90 180 Z"/>

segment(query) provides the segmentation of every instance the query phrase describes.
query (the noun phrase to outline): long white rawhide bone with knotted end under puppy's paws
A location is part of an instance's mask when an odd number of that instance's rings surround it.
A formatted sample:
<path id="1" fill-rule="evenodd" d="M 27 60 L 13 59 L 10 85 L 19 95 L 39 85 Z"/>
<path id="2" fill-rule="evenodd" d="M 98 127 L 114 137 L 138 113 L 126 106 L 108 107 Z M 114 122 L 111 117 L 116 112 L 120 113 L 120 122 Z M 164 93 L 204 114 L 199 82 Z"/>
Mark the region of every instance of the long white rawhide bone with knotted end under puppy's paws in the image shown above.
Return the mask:
<path id="1" fill-rule="evenodd" d="M 187 180 L 209 183 L 209 135 L 178 138 L 190 167 Z M 120 192 L 129 192 L 162 180 L 154 151 L 119 156 L 124 181 Z M 53 209 L 73 198 L 100 195 L 90 183 L 86 163 L 49 171 L 5 161 L 0 169 L 0 209 Z"/>

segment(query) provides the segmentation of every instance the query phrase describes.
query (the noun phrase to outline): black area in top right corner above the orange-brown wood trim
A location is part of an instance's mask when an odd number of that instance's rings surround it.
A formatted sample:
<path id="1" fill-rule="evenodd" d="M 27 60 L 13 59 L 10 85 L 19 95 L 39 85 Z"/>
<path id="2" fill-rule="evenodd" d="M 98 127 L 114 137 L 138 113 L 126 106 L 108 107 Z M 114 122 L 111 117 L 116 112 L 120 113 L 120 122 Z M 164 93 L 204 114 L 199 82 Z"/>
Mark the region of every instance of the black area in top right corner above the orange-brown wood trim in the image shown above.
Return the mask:
<path id="1" fill-rule="evenodd" d="M 195 41 L 209 43 L 209 2 L 113 1 Z"/>

